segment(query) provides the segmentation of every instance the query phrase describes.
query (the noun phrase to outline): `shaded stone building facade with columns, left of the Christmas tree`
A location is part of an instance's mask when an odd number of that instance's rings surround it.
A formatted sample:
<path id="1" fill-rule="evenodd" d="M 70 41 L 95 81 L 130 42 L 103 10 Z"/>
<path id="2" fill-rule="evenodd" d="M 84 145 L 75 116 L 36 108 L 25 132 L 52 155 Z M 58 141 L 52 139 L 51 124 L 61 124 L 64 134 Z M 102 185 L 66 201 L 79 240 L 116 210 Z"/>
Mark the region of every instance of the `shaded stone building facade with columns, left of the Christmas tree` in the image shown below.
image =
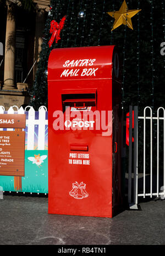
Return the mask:
<path id="1" fill-rule="evenodd" d="M 0 4 L 0 105 L 27 106 L 28 88 L 35 80 L 43 29 L 50 9 L 50 1 L 33 1 L 26 11 L 18 0 Z"/>

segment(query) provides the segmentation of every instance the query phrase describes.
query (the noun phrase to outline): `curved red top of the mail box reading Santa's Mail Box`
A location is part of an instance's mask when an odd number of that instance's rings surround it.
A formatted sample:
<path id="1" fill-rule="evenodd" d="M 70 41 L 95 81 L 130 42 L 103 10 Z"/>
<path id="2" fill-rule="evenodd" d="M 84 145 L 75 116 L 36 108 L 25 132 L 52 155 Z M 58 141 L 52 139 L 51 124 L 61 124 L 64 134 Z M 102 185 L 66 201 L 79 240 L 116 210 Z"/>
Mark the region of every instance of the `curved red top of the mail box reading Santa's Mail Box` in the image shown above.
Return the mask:
<path id="1" fill-rule="evenodd" d="M 119 62 L 114 45 L 57 48 L 51 51 L 48 60 L 48 82 L 112 79 L 112 66 L 118 75 Z"/>

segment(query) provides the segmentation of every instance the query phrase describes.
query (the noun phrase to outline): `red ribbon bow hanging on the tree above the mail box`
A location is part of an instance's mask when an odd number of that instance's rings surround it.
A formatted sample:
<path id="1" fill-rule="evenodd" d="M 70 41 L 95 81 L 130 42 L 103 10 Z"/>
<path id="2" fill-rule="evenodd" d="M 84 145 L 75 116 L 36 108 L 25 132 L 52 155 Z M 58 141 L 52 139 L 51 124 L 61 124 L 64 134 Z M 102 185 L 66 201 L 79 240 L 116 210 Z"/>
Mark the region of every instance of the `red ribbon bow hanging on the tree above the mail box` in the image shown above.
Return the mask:
<path id="1" fill-rule="evenodd" d="M 64 22 L 65 22 L 66 17 L 67 17 L 67 15 L 65 15 L 61 19 L 59 24 L 56 22 L 56 20 L 51 21 L 50 33 L 52 34 L 52 36 L 51 36 L 51 39 L 48 41 L 48 45 L 50 47 L 52 46 L 54 39 L 56 40 L 56 43 L 58 42 L 59 39 L 61 39 L 60 32 L 64 27 Z"/>

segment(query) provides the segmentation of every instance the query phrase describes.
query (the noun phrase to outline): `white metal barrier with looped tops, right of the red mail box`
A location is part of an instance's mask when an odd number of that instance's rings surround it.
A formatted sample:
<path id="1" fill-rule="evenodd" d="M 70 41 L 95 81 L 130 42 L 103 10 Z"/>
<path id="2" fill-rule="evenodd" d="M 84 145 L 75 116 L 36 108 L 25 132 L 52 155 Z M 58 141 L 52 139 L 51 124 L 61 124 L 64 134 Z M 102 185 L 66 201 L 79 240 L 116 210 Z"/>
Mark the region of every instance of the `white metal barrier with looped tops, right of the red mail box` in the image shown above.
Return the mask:
<path id="1" fill-rule="evenodd" d="M 148 114 L 146 112 L 149 112 Z M 163 113 L 161 116 L 160 112 Z M 154 122 L 154 124 L 153 124 Z M 138 124 L 143 126 L 143 129 L 138 129 Z M 149 129 L 146 128 L 149 127 Z M 153 144 L 153 125 L 156 127 L 156 143 Z M 160 147 L 160 126 L 163 130 L 163 138 L 162 144 Z M 160 107 L 157 109 L 157 116 L 153 116 L 152 108 L 145 107 L 144 115 L 138 116 L 138 107 L 134 107 L 134 129 L 133 127 L 133 107 L 129 107 L 129 173 L 128 173 L 128 203 L 130 208 L 138 208 L 138 197 L 146 197 L 146 196 L 161 196 L 161 198 L 165 198 L 165 109 Z M 142 133 L 142 144 L 143 144 L 143 165 L 139 166 L 139 137 L 140 133 Z M 132 135 L 134 137 L 134 143 L 132 143 Z M 147 141 L 146 141 L 147 137 Z M 134 147 L 133 147 L 134 144 Z M 146 151 L 147 146 L 147 151 Z M 156 155 L 153 155 L 153 149 L 156 151 Z M 134 151 L 134 154 L 133 154 Z M 160 152 L 163 151 L 163 156 L 160 159 Z M 150 155 L 150 163 L 147 162 L 146 156 Z M 156 162 L 154 162 L 156 161 Z M 155 165 L 156 170 L 154 170 L 153 175 L 153 163 Z M 146 174 L 146 165 L 150 166 L 150 170 Z M 162 166 L 162 176 L 160 180 L 160 167 Z M 133 171 L 133 190 L 132 190 L 132 171 Z M 147 186 L 146 186 L 146 176 L 150 178 Z M 139 180 L 143 179 L 143 191 L 139 191 Z M 161 184 L 160 185 L 160 181 Z M 156 186 L 153 188 L 153 182 Z M 146 192 L 150 191 L 150 192 Z M 133 193 L 132 193 L 133 192 Z M 133 195 L 132 195 L 133 194 Z"/>

